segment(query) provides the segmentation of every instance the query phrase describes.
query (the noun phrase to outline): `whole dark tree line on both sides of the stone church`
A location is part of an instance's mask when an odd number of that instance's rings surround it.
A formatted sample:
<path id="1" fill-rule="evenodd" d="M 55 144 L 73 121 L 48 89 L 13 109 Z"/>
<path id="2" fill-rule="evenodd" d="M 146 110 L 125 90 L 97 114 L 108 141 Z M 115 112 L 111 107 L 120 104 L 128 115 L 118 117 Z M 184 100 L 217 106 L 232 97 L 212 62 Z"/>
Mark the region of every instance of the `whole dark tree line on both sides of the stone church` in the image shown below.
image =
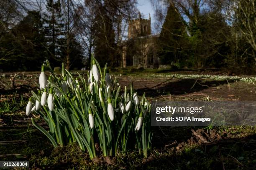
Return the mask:
<path id="1" fill-rule="evenodd" d="M 256 0 L 151 2 L 161 64 L 255 70 Z M 88 67 L 92 53 L 101 65 L 120 67 L 128 20 L 138 16 L 136 3 L 0 0 L 0 70 L 38 70 L 46 59 L 80 69 Z"/>

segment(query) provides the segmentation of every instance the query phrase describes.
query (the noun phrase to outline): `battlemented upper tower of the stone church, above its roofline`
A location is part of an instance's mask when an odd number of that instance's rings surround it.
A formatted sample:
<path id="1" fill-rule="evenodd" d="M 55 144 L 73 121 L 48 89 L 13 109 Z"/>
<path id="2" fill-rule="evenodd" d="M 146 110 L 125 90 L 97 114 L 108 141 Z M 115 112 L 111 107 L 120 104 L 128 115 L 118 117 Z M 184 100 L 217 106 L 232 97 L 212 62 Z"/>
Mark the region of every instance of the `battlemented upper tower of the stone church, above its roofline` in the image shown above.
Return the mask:
<path id="1" fill-rule="evenodd" d="M 139 13 L 139 18 L 135 20 L 129 20 L 128 24 L 128 39 L 151 35 L 150 14 L 147 20 L 141 18 L 141 13 Z"/>

